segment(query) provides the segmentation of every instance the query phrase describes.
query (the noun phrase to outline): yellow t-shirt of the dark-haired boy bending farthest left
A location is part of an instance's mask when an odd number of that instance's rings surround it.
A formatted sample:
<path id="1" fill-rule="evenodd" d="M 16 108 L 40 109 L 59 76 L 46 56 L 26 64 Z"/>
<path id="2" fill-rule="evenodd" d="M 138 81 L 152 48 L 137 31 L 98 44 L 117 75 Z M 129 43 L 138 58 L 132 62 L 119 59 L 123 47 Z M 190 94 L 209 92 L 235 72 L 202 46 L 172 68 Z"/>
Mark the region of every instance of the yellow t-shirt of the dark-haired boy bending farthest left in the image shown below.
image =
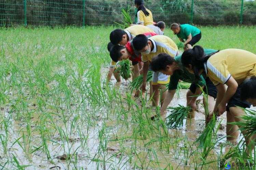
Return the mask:
<path id="1" fill-rule="evenodd" d="M 142 25 L 134 25 L 134 26 L 124 29 L 124 31 L 127 33 L 128 37 L 129 37 L 129 41 L 132 40 L 134 37 L 136 37 L 136 35 L 139 35 L 139 34 L 144 34 L 147 32 L 156 33 L 151 28 L 148 28 L 148 27 L 142 26 Z"/>

